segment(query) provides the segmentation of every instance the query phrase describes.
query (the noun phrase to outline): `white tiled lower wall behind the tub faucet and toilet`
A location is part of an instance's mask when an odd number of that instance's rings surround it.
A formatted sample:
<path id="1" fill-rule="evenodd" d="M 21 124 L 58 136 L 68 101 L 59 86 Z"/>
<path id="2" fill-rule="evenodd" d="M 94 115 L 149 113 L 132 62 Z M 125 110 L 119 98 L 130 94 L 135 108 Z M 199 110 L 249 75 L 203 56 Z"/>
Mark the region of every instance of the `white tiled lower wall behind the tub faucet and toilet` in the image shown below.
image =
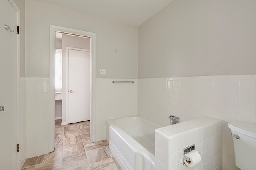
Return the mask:
<path id="1" fill-rule="evenodd" d="M 256 124 L 256 75 L 138 79 L 138 115 L 166 126 L 172 114 L 187 121 L 222 119 L 223 169 L 238 170 L 228 123 Z"/>

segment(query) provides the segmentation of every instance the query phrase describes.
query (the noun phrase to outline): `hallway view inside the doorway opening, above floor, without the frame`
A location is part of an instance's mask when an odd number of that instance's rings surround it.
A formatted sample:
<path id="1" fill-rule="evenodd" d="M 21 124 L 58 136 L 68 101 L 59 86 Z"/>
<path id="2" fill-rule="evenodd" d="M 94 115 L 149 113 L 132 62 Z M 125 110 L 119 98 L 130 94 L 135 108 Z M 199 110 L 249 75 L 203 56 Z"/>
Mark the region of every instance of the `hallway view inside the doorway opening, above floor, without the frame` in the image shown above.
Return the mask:
<path id="1" fill-rule="evenodd" d="M 55 120 L 90 120 L 90 37 L 56 32 Z"/>

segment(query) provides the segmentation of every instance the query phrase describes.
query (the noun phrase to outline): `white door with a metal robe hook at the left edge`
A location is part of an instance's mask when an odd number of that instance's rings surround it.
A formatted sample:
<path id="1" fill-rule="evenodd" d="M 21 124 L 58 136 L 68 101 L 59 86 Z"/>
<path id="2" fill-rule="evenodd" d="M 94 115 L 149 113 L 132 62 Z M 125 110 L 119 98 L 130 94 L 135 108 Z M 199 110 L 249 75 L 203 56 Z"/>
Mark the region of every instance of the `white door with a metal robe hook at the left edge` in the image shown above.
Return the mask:
<path id="1" fill-rule="evenodd" d="M 17 168 L 17 16 L 8 0 L 0 0 L 0 169 Z M 5 30 L 4 25 L 9 29 Z"/>

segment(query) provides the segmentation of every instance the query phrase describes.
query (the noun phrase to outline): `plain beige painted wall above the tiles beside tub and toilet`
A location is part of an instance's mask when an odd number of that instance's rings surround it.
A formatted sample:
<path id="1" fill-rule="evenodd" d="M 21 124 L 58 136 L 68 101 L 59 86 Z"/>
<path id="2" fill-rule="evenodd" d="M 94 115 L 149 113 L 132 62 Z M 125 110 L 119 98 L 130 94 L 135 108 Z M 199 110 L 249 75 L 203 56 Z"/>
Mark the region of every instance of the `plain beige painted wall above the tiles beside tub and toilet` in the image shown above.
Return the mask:
<path id="1" fill-rule="evenodd" d="M 256 73 L 255 0 L 174 0 L 138 27 L 138 78 Z"/>

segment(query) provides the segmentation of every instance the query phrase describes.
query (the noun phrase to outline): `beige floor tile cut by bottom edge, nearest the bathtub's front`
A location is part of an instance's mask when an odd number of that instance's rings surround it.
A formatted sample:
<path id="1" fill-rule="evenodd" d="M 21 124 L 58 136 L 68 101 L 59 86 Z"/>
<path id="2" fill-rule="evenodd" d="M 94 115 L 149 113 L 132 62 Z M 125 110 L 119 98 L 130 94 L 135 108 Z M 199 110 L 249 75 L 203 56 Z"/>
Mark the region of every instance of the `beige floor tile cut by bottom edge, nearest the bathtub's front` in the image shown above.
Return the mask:
<path id="1" fill-rule="evenodd" d="M 116 166 L 112 158 L 90 164 L 90 168 L 91 170 L 118 170 L 118 167 Z"/>

